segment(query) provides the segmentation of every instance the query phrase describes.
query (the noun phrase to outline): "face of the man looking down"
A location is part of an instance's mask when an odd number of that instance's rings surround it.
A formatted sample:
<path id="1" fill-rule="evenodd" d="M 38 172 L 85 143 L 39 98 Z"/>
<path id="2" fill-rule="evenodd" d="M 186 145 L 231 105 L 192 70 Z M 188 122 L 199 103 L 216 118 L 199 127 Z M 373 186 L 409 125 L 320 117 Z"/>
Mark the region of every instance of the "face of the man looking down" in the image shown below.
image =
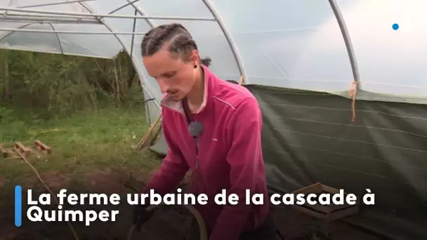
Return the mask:
<path id="1" fill-rule="evenodd" d="M 173 100 L 180 101 L 190 93 L 195 84 L 198 62 L 197 51 L 192 51 L 190 61 L 184 62 L 162 48 L 155 55 L 143 58 L 148 74 L 157 80 L 162 93 L 168 93 Z"/>

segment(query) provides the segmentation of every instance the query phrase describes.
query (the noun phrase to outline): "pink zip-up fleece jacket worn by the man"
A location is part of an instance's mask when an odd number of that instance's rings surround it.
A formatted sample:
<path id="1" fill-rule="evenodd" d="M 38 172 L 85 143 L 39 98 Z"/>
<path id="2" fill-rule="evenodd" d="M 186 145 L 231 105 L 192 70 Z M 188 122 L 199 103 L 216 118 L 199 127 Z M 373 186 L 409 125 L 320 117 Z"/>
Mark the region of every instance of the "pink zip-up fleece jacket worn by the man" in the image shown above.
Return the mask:
<path id="1" fill-rule="evenodd" d="M 143 193 L 150 189 L 159 194 L 173 192 L 185 173 L 197 166 L 190 192 L 208 196 L 208 204 L 196 208 L 212 231 L 209 239 L 237 240 L 242 232 L 261 225 L 268 215 L 261 110 L 247 88 L 218 79 L 207 67 L 204 73 L 204 103 L 194 116 L 203 124 L 199 153 L 188 131 L 182 102 L 166 95 L 162 100 L 162 127 L 169 150 Z M 222 189 L 228 195 L 237 194 L 239 204 L 215 204 L 214 197 Z M 245 204 L 246 189 L 251 194 L 263 194 L 264 204 Z"/>

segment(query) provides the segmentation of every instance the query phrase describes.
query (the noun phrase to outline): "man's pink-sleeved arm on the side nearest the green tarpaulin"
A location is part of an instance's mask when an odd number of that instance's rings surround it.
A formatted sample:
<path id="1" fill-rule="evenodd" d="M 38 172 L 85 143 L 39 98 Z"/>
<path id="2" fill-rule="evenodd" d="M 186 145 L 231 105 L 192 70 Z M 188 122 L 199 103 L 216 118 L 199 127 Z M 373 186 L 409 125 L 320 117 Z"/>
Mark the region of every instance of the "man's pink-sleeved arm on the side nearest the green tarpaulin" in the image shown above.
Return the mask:
<path id="1" fill-rule="evenodd" d="M 227 195 L 237 194 L 239 204 L 224 206 L 209 240 L 237 240 L 247 223 L 251 205 L 246 205 L 245 192 L 256 186 L 259 156 L 261 152 L 262 117 L 258 102 L 247 98 L 237 106 L 227 126 L 231 141 L 227 155 L 231 166 L 231 187 Z"/>

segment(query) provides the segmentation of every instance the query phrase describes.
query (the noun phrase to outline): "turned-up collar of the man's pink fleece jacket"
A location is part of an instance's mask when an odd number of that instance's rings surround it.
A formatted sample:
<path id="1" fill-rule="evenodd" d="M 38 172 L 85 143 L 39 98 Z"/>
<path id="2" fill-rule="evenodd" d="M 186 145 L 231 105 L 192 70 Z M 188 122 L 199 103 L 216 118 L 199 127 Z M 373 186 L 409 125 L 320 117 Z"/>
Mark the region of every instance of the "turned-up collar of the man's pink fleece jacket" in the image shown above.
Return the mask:
<path id="1" fill-rule="evenodd" d="M 206 107 L 209 106 L 209 103 L 211 102 L 211 97 L 214 94 L 215 77 L 213 76 L 211 71 L 209 71 L 208 67 L 206 67 L 205 65 L 201 65 L 201 66 L 203 67 L 203 72 L 204 72 L 204 95 L 203 95 L 202 105 L 200 106 L 199 111 L 197 111 L 196 114 L 199 114 L 204 109 L 206 109 Z M 182 101 L 176 102 L 167 93 L 163 95 L 163 99 L 162 99 L 162 102 L 160 102 L 160 104 L 163 107 L 167 107 L 169 109 L 185 114 L 183 109 L 183 102 Z"/>

